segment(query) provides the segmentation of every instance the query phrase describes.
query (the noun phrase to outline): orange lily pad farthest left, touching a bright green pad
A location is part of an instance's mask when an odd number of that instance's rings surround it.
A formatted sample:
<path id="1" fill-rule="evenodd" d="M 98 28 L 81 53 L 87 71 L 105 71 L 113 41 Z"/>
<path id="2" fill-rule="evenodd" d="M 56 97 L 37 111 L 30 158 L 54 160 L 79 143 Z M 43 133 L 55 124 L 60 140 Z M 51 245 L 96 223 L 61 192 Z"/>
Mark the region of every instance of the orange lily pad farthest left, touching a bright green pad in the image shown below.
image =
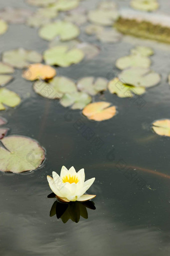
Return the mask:
<path id="1" fill-rule="evenodd" d="M 48 65 L 43 65 L 41 63 L 32 64 L 27 70 L 22 74 L 22 77 L 26 80 L 36 80 L 36 79 L 50 79 L 56 75 L 55 69 Z"/>

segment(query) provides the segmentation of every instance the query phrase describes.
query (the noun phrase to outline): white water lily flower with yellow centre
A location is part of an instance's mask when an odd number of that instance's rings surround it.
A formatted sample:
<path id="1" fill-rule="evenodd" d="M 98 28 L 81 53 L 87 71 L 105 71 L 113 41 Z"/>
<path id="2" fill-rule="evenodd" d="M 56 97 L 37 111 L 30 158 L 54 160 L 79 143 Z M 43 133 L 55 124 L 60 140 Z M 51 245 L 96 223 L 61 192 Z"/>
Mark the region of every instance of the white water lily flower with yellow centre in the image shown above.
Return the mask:
<path id="1" fill-rule="evenodd" d="M 47 176 L 47 181 L 52 192 L 60 201 L 87 201 L 95 197 L 95 195 L 84 194 L 92 185 L 95 178 L 88 179 L 84 182 L 84 169 L 75 171 L 72 166 L 69 170 L 62 166 L 60 176 L 56 172 L 52 172 L 52 177 Z"/>

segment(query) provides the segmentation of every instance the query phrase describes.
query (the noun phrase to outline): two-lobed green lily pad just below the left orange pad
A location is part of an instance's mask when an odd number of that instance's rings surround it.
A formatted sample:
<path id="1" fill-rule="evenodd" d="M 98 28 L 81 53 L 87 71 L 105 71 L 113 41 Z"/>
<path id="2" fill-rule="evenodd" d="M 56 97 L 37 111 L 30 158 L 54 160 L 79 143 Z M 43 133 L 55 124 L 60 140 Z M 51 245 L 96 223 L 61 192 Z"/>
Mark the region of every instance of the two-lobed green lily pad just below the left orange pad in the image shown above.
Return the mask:
<path id="1" fill-rule="evenodd" d="M 49 83 L 37 81 L 33 84 L 33 90 L 48 99 L 59 99 L 65 93 L 77 91 L 75 83 L 66 77 L 54 77 L 49 80 Z"/>

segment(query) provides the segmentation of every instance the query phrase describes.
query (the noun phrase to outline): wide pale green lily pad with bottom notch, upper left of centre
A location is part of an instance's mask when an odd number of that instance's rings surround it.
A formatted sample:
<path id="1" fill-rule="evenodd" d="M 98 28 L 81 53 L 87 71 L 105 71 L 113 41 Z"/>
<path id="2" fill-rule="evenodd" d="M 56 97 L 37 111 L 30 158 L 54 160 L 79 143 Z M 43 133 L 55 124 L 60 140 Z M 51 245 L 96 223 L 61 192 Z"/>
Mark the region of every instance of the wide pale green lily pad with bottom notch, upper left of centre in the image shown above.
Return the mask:
<path id="1" fill-rule="evenodd" d="M 57 36 L 61 41 L 67 41 L 76 38 L 78 35 L 78 27 L 65 21 L 49 23 L 39 29 L 39 37 L 47 41 L 51 41 Z"/>

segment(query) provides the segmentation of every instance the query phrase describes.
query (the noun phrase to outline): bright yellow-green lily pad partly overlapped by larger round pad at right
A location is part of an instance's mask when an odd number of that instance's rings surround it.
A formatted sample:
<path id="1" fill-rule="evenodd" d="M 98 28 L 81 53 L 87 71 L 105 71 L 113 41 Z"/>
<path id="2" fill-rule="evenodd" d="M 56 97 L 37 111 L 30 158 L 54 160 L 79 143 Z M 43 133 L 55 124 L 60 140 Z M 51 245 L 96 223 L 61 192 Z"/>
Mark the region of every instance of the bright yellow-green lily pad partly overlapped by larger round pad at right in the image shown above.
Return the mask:
<path id="1" fill-rule="evenodd" d="M 133 97 L 134 94 L 141 95 L 145 93 L 144 87 L 128 86 L 123 84 L 118 78 L 114 78 L 108 83 L 108 90 L 120 98 Z"/>

